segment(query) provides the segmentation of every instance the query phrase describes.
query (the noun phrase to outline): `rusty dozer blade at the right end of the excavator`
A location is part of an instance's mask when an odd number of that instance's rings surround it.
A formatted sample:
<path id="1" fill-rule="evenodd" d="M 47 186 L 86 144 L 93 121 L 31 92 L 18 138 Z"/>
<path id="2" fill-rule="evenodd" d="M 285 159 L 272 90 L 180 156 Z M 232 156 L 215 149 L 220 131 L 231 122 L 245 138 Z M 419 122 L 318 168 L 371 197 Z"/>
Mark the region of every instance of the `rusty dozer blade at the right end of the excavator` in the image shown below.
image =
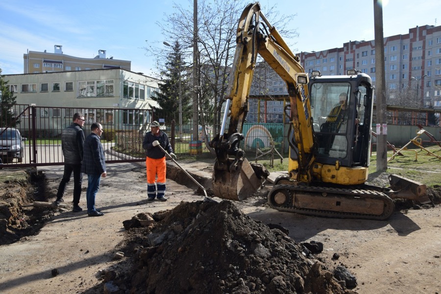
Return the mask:
<path id="1" fill-rule="evenodd" d="M 424 184 L 402 177 L 397 174 L 389 175 L 390 189 L 392 194 L 387 193 L 392 199 L 402 198 L 408 200 L 417 200 L 421 204 L 430 203 L 427 196 L 427 187 Z"/>

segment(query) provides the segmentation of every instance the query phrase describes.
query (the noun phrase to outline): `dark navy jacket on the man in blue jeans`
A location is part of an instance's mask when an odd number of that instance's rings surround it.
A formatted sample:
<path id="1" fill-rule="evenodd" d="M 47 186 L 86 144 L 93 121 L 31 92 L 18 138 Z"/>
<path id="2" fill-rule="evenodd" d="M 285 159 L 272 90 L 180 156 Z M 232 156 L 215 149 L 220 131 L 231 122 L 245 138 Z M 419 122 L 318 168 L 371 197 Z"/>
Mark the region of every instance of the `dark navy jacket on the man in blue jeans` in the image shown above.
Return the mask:
<path id="1" fill-rule="evenodd" d="M 81 172 L 87 174 L 101 174 L 106 171 L 104 150 L 102 149 L 99 136 L 90 133 L 84 142 L 84 157 Z"/>

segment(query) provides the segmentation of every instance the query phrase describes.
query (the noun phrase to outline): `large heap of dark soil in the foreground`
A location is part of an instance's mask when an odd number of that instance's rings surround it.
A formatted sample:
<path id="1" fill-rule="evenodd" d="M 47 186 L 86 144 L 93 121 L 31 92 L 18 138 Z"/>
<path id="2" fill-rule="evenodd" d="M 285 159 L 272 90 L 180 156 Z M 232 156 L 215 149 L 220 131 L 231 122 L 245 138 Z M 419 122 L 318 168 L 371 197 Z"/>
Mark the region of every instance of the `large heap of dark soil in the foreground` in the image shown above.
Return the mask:
<path id="1" fill-rule="evenodd" d="M 126 293 L 355 293 L 302 245 L 230 201 L 182 202 L 152 217 L 128 230 L 129 269 L 104 283 Z"/>

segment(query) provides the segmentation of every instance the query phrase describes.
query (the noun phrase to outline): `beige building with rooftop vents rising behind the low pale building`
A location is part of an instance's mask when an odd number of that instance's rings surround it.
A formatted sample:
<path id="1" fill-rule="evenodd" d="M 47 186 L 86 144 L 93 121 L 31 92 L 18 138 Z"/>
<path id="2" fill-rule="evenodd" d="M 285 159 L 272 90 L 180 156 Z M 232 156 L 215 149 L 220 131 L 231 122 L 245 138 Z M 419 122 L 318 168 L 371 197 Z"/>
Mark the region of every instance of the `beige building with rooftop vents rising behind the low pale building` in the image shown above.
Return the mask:
<path id="1" fill-rule="evenodd" d="M 66 55 L 61 45 L 54 45 L 54 52 L 28 51 L 23 55 L 24 73 L 52 73 L 98 69 L 131 70 L 131 61 L 106 58 L 106 50 L 98 50 L 94 58 Z"/>

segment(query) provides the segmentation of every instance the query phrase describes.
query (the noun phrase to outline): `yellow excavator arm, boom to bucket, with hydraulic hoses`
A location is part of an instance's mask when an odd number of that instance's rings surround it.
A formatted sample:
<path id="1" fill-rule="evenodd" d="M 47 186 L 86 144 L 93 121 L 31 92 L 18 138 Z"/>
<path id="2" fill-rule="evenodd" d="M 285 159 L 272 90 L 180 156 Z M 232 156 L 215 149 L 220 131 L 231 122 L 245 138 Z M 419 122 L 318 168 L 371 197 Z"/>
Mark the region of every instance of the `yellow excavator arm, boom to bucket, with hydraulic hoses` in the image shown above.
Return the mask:
<path id="1" fill-rule="evenodd" d="M 240 142 L 244 139 L 241 132 L 247 114 L 247 100 L 257 54 L 287 84 L 293 140 L 298 150 L 298 167 L 294 178 L 297 181 L 310 182 L 315 144 L 307 73 L 276 28 L 265 18 L 259 3 L 245 7 L 239 21 L 236 41 L 221 131 L 210 142 L 210 146 L 216 151 L 212 179 L 215 196 L 243 200 L 256 192 L 265 180 L 258 176 L 265 172 L 253 169 L 240 148 Z"/>

